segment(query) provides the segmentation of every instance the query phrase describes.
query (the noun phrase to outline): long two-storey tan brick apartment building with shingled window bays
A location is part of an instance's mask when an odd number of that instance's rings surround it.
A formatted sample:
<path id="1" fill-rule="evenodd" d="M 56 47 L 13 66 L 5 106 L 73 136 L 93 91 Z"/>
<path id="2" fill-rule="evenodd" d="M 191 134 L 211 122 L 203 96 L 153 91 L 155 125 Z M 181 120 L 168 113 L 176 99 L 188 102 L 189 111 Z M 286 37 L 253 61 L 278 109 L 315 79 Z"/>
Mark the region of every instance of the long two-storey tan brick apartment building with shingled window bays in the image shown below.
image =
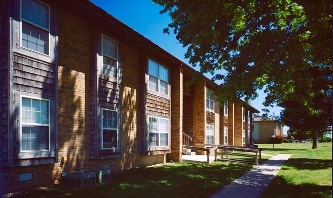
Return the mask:
<path id="1" fill-rule="evenodd" d="M 0 194 L 61 171 L 180 162 L 182 135 L 251 144 L 254 113 L 87 0 L 0 0 Z"/>

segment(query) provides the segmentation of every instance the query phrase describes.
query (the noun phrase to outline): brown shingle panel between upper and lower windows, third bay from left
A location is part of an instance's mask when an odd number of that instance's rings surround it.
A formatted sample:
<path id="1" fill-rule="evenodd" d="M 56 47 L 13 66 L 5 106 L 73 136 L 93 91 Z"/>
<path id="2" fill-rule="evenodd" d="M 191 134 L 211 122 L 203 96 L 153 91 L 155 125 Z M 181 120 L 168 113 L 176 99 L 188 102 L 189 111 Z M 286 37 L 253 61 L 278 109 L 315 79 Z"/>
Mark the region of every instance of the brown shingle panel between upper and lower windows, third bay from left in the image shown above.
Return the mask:
<path id="1" fill-rule="evenodd" d="M 170 100 L 147 94 L 147 114 L 169 118 Z"/>

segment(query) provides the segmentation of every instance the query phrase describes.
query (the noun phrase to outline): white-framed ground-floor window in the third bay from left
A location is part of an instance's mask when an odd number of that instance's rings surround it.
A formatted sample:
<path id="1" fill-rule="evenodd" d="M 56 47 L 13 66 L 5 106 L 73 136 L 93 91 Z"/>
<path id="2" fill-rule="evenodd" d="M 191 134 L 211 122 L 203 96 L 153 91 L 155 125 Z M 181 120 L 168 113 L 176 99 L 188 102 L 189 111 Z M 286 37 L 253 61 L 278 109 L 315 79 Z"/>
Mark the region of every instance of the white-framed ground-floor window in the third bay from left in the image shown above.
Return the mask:
<path id="1" fill-rule="evenodd" d="M 150 147 L 169 146 L 169 120 L 149 117 Z"/>

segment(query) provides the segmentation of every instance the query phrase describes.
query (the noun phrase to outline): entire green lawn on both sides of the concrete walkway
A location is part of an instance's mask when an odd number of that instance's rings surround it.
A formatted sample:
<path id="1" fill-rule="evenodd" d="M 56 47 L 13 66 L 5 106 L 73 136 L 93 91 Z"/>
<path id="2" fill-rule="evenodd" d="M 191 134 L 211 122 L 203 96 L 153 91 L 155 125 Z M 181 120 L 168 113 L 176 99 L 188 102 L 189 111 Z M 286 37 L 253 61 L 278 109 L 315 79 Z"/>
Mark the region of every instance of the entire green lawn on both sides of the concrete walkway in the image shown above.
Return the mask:
<path id="1" fill-rule="evenodd" d="M 318 143 L 318 149 L 306 143 L 275 144 L 274 150 L 272 146 L 259 145 L 265 154 L 293 155 L 262 197 L 332 197 L 331 143 Z M 263 155 L 264 160 L 268 158 Z M 209 197 L 253 166 L 232 162 L 168 163 L 112 173 L 112 182 L 105 185 L 86 189 L 40 187 L 15 197 Z"/>

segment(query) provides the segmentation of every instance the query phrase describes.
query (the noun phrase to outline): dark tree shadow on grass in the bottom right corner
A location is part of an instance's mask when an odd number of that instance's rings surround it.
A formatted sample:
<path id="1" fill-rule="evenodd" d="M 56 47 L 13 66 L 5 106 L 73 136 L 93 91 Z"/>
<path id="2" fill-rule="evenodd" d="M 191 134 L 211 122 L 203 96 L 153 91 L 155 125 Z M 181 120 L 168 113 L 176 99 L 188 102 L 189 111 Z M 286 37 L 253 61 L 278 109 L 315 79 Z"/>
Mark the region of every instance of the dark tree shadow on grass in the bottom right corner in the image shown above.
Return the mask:
<path id="1" fill-rule="evenodd" d="M 314 184 L 294 185 L 288 184 L 282 176 L 275 176 L 272 184 L 261 194 L 266 197 L 331 197 L 332 186 L 319 186 Z"/>

